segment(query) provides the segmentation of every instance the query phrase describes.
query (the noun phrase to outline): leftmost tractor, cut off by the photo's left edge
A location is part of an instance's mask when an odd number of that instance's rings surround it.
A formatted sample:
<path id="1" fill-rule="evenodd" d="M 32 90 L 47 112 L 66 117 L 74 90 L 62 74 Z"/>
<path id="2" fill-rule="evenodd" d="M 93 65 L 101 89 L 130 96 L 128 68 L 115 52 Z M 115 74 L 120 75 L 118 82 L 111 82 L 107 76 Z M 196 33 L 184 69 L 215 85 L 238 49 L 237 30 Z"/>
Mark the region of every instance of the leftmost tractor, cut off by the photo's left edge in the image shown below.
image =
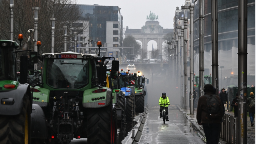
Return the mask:
<path id="1" fill-rule="evenodd" d="M 30 52 L 28 58 L 26 44 L 22 51 L 15 51 L 17 48 L 15 41 L 0 40 L 0 143 L 42 143 L 47 137 L 45 116 L 39 105 L 32 104 L 27 83 L 28 63 L 37 63 L 37 52 Z M 16 74 L 18 52 L 22 52 L 20 81 Z"/>

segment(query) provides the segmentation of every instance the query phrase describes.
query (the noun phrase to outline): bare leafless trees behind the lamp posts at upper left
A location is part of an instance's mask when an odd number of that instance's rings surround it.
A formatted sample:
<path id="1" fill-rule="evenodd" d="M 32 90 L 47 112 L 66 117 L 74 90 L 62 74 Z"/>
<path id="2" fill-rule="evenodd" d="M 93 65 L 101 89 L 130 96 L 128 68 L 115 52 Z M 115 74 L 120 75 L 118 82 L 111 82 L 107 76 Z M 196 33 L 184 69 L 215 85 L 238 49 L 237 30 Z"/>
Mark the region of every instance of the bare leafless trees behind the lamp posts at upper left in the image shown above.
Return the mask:
<path id="1" fill-rule="evenodd" d="M 9 39 L 9 0 L 0 1 L 0 39 Z M 18 34 L 23 34 L 23 43 L 27 43 L 29 49 L 34 49 L 34 42 L 27 42 L 28 37 L 34 38 L 34 33 L 27 33 L 34 29 L 34 11 L 32 7 L 40 7 L 38 14 L 38 40 L 42 42 L 40 53 L 51 53 L 51 22 L 50 18 L 56 18 L 55 22 L 55 53 L 64 52 L 64 29 L 68 26 L 68 45 L 71 41 L 71 27 L 79 21 L 88 21 L 82 16 L 82 12 L 75 5 L 76 0 L 14 0 L 14 40 L 18 40 Z M 83 25 L 82 31 L 87 29 L 88 23 Z M 80 27 L 81 30 L 81 27 Z"/>

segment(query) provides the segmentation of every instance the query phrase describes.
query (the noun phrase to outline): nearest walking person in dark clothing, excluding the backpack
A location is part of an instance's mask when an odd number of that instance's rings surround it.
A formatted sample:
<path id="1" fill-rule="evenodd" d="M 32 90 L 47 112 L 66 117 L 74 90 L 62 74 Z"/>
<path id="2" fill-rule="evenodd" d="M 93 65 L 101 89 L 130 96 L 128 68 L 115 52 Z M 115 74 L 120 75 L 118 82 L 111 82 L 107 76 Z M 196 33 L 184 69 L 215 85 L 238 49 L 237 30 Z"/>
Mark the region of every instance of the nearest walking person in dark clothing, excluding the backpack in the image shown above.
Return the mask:
<path id="1" fill-rule="evenodd" d="M 204 134 L 206 137 L 206 143 L 219 143 L 219 137 L 220 137 L 220 130 L 221 130 L 221 119 L 222 117 L 218 119 L 210 119 L 208 112 L 207 112 L 207 97 L 206 95 L 212 95 L 213 94 L 213 86 L 211 84 L 206 84 L 204 86 L 203 91 L 205 92 L 205 95 L 201 96 L 198 99 L 198 105 L 197 105 L 197 112 L 196 112 L 196 119 L 198 124 L 203 125 Z M 216 98 L 222 107 L 221 100 L 218 95 L 216 95 Z M 223 108 L 223 107 L 222 107 Z M 223 116 L 222 108 L 220 108 L 220 114 Z"/>

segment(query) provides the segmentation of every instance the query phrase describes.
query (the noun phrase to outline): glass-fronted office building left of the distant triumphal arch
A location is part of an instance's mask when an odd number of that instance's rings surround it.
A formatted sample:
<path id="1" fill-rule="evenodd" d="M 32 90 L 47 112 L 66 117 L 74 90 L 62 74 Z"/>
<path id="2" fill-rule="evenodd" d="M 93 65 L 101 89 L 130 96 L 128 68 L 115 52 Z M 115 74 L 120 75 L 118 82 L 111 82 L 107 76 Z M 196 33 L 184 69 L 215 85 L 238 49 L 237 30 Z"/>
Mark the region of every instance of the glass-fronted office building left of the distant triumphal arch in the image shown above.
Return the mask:
<path id="1" fill-rule="evenodd" d="M 99 5 L 77 5 L 85 19 L 89 18 L 89 39 L 93 41 L 101 41 L 103 44 L 107 42 L 107 22 L 118 22 L 114 24 L 114 28 L 122 31 L 122 16 L 118 6 L 99 6 Z M 116 31 L 113 31 L 113 34 Z M 123 32 L 118 32 L 120 40 L 123 38 Z M 116 40 L 116 39 L 115 39 Z"/>

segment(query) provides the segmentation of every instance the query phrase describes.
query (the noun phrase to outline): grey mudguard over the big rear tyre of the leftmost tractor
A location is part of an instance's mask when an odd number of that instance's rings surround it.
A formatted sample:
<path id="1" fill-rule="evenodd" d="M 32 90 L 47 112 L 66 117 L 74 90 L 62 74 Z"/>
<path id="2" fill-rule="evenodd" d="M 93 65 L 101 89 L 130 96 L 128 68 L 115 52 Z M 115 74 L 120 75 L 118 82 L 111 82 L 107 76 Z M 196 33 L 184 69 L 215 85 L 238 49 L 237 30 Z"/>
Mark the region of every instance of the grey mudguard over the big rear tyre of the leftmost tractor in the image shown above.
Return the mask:
<path id="1" fill-rule="evenodd" d="M 14 100 L 13 104 L 2 104 L 2 102 L 0 103 L 0 115 L 14 116 L 20 114 L 23 108 L 23 98 L 26 99 L 24 96 L 28 94 L 28 88 L 30 89 L 29 84 L 25 83 L 19 84 L 15 90 L 0 92 L 0 101 L 6 98 Z M 30 97 L 29 100 L 32 100 L 30 92 L 28 96 Z"/>

